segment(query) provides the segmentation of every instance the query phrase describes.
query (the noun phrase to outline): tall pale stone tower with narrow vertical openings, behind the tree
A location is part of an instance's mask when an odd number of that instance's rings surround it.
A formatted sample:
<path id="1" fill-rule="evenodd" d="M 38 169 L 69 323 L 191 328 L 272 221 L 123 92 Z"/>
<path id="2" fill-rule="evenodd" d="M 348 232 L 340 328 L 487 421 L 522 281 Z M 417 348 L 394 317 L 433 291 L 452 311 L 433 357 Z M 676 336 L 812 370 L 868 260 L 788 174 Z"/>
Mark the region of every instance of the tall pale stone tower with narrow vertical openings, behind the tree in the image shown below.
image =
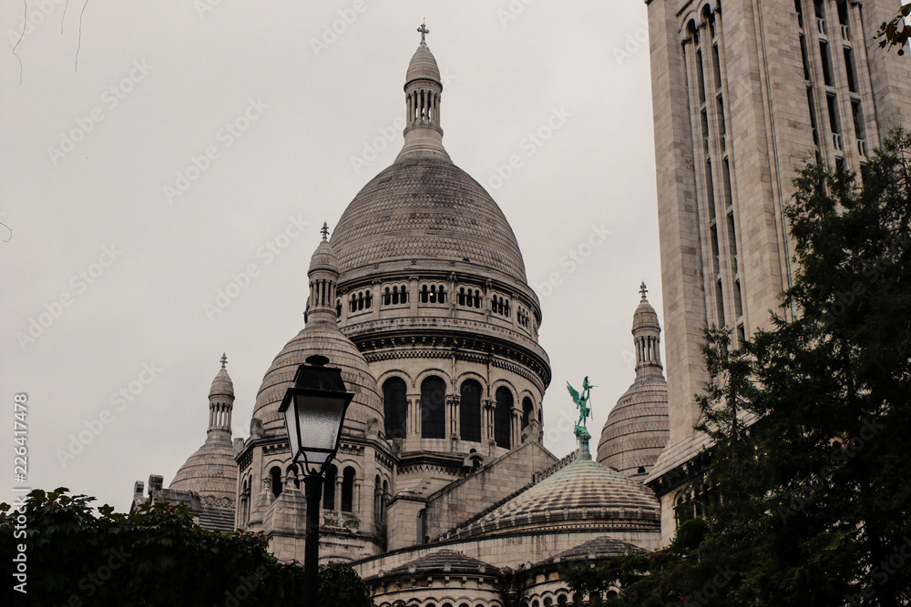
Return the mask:
<path id="1" fill-rule="evenodd" d="M 794 274 L 782 207 L 814 157 L 859 170 L 911 126 L 911 64 L 873 35 L 896 0 L 647 0 L 670 444 L 665 538 L 695 456 L 701 328 L 768 327 Z M 691 483 L 690 483 L 691 484 Z M 674 495 L 671 495 L 674 493 Z"/>

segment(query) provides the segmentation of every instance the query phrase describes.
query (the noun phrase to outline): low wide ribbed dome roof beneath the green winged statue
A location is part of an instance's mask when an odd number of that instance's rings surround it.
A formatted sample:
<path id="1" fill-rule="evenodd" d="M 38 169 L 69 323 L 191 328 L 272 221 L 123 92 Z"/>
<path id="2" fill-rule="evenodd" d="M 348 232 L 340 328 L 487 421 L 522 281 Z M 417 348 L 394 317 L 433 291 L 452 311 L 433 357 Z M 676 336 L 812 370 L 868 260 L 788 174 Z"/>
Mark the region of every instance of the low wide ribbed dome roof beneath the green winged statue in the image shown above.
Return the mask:
<path id="1" fill-rule="evenodd" d="M 518 529 L 594 529 L 605 524 L 659 526 L 659 501 L 645 485 L 601 464 L 576 459 L 491 511 L 455 537 L 499 535 Z"/>

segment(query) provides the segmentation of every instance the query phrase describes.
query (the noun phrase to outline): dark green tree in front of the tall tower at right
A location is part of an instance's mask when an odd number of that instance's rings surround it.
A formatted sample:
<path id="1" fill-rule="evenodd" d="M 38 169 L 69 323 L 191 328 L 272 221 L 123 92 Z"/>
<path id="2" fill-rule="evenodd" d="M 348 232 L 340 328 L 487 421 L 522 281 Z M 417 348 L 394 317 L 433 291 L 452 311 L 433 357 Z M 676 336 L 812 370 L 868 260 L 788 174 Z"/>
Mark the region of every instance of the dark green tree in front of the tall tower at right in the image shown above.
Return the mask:
<path id="1" fill-rule="evenodd" d="M 714 499 L 665 551 L 564 572 L 609 605 L 911 603 L 911 135 L 795 179 L 799 268 L 769 330 L 706 329 Z"/>

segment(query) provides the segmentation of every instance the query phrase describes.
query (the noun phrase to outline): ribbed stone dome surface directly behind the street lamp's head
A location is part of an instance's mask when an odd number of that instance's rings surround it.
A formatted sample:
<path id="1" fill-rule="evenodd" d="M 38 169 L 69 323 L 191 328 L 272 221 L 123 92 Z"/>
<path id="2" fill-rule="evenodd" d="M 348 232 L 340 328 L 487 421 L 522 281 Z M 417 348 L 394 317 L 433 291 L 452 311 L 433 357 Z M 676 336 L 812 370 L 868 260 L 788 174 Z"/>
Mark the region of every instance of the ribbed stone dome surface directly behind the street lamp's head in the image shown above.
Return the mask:
<path id="1" fill-rule="evenodd" d="M 383 405 L 376 389 L 376 379 L 363 355 L 333 322 L 332 325 L 308 324 L 272 360 L 253 406 L 253 417 L 262 421 L 263 429 L 286 431 L 284 419 L 279 413 L 281 399 L 293 385 L 297 368 L 312 354 L 322 354 L 329 359 L 328 367 L 342 369 L 345 386 L 354 392 L 354 400 L 345 416 L 345 428 L 363 431 L 366 423 L 373 419 L 378 420 L 382 428 Z"/>

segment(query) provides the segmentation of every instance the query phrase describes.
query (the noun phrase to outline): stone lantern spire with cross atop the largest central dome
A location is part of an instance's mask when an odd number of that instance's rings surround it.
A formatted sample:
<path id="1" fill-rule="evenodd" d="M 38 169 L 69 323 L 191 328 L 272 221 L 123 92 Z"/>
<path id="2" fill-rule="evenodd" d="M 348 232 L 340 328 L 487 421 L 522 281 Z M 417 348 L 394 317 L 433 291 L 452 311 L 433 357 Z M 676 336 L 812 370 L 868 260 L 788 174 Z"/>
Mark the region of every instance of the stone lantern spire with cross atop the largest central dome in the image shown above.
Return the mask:
<path id="1" fill-rule="evenodd" d="M 421 24 L 421 44 L 408 65 L 405 76 L 405 120 L 404 147 L 396 161 L 408 157 L 439 157 L 452 160 L 443 147 L 443 128 L 440 126 L 440 96 L 443 83 L 440 68 L 425 41 L 430 30 Z"/>

